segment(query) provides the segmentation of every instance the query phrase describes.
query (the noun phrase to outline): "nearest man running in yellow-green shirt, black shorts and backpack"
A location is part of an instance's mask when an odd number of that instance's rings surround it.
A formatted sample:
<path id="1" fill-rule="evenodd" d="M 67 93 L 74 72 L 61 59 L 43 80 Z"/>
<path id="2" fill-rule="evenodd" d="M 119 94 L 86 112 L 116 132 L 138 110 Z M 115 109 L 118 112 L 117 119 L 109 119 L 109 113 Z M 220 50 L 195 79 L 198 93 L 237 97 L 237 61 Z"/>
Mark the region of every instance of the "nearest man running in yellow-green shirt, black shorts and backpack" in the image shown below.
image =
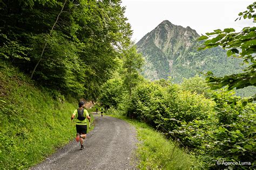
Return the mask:
<path id="1" fill-rule="evenodd" d="M 83 145 L 83 139 L 86 138 L 86 133 L 87 133 L 87 123 L 86 123 L 86 118 L 91 122 L 91 117 L 89 116 L 88 112 L 86 109 L 84 109 L 84 102 L 80 101 L 78 103 L 78 109 L 76 109 L 72 116 L 71 116 L 71 121 L 76 117 L 77 122 L 76 122 L 76 129 L 77 129 L 77 136 L 76 136 L 76 141 L 78 142 L 80 140 L 80 145 L 81 148 L 80 150 L 83 150 L 84 145 Z M 77 115 L 77 116 L 76 116 Z"/>

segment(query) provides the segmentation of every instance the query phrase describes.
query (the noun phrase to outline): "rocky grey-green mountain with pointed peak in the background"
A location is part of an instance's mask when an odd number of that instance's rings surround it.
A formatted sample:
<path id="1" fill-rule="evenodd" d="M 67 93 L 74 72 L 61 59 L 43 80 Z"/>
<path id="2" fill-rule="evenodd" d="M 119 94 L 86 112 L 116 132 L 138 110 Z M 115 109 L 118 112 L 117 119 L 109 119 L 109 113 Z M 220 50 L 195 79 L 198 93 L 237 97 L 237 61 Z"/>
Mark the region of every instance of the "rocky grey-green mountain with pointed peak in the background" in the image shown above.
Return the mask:
<path id="1" fill-rule="evenodd" d="M 137 42 L 138 52 L 145 58 L 142 74 L 150 80 L 193 77 L 211 70 L 216 75 L 241 71 L 241 60 L 227 58 L 220 47 L 197 51 L 199 34 L 187 26 L 173 25 L 168 20 L 161 22 L 154 30 Z"/>

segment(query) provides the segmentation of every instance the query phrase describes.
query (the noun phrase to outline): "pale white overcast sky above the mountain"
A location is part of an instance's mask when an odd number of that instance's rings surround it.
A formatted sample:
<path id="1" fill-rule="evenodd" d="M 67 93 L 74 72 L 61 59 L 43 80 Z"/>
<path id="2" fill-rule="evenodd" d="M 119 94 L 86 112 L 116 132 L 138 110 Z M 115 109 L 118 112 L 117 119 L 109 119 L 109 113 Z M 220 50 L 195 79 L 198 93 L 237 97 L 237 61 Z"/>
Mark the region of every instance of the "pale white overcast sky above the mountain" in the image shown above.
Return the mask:
<path id="1" fill-rule="evenodd" d="M 252 20 L 237 20 L 238 13 L 246 10 L 252 0 L 123 0 L 125 17 L 133 30 L 132 40 L 137 42 L 163 20 L 174 25 L 190 26 L 199 35 L 217 29 L 232 27 L 241 31 L 256 26 Z"/>

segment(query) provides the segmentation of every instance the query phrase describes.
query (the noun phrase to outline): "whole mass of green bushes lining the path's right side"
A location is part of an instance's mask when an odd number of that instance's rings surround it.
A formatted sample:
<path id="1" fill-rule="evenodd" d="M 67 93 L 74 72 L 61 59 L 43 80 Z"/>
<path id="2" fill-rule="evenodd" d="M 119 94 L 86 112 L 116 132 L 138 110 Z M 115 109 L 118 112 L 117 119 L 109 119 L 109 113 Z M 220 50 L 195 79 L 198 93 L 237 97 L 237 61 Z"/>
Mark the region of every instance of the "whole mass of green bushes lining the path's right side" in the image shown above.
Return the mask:
<path id="1" fill-rule="evenodd" d="M 108 86 L 110 91 L 116 90 L 114 81 Z M 254 165 L 256 104 L 248 103 L 248 98 L 234 96 L 234 91 L 226 89 L 210 90 L 200 77 L 185 80 L 182 86 L 163 79 L 144 82 L 133 90 L 130 100 L 128 94 L 118 91 L 115 96 L 104 95 L 102 102 L 104 98 L 118 98 L 119 103 L 110 108 L 119 111 L 111 112 L 127 114 L 160 130 L 196 154 L 202 168 L 227 167 L 217 165 L 217 161 L 251 164 L 234 166 L 239 168 Z"/>

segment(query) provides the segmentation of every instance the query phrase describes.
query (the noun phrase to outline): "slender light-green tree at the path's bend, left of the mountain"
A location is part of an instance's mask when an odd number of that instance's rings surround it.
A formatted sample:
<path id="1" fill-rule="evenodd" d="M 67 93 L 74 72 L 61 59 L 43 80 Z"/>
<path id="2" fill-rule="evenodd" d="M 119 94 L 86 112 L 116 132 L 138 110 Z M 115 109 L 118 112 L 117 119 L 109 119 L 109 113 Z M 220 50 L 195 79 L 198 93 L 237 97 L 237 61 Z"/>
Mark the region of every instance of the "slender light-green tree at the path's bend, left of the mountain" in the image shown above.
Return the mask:
<path id="1" fill-rule="evenodd" d="M 137 53 L 135 46 L 132 46 L 124 52 L 122 74 L 124 86 L 129 91 L 129 99 L 131 97 L 132 89 L 137 86 L 140 80 L 142 80 L 139 72 L 143 66 L 143 61 L 142 54 Z"/>

